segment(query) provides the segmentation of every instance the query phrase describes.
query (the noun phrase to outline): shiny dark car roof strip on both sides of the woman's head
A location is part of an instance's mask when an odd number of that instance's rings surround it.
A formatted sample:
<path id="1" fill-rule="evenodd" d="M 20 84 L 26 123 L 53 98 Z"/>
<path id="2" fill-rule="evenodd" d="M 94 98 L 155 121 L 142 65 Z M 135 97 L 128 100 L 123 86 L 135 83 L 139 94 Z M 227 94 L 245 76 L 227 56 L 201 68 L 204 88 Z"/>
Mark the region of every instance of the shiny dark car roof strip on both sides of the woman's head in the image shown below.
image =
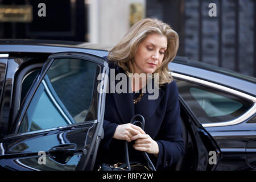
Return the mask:
<path id="1" fill-rule="evenodd" d="M 60 40 L 31 40 L 31 39 L 0 39 L 0 52 L 84 52 L 100 57 L 108 55 L 112 46 L 70 42 Z M 169 69 L 183 75 L 197 77 L 203 80 L 216 82 L 236 90 L 256 96 L 256 78 L 220 68 L 214 65 L 191 60 L 188 57 L 176 56 L 169 64 Z"/>

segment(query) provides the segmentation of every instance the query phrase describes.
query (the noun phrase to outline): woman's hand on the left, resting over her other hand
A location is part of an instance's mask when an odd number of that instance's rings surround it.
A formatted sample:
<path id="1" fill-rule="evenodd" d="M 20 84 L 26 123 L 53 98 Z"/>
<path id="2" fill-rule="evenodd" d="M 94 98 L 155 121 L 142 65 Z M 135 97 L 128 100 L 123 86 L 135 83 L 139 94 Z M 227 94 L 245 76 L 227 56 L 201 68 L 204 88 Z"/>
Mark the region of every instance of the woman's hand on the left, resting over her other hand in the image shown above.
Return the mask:
<path id="1" fill-rule="evenodd" d="M 127 124 L 117 126 L 117 129 L 115 129 L 113 138 L 131 142 L 131 137 L 138 134 L 146 134 L 146 133 L 141 129 L 141 127 L 133 125 L 131 123 L 127 123 Z"/>

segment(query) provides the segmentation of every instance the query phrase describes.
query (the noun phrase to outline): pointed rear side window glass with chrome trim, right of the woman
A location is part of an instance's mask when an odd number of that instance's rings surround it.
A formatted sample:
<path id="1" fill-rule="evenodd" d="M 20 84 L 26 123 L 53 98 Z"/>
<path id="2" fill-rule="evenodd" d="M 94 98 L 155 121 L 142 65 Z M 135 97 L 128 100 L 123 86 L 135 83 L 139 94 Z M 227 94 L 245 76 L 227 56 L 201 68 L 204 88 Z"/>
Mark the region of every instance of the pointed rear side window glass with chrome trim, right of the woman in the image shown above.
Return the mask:
<path id="1" fill-rule="evenodd" d="M 200 123 L 231 121 L 250 109 L 253 103 L 220 90 L 175 79 L 179 93 Z"/>

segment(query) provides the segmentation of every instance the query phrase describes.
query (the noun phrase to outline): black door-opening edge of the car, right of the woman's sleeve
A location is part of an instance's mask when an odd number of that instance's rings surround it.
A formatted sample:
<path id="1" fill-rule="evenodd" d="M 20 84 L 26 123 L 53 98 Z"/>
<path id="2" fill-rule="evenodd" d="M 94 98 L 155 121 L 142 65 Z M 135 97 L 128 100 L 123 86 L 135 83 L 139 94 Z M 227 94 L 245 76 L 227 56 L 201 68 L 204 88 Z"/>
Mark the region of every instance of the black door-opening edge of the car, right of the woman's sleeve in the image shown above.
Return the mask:
<path id="1" fill-rule="evenodd" d="M 214 171 L 221 158 L 220 148 L 199 123 L 183 97 L 179 97 L 185 154 L 175 166 L 176 171 Z M 216 154 L 216 155 L 214 155 Z"/>

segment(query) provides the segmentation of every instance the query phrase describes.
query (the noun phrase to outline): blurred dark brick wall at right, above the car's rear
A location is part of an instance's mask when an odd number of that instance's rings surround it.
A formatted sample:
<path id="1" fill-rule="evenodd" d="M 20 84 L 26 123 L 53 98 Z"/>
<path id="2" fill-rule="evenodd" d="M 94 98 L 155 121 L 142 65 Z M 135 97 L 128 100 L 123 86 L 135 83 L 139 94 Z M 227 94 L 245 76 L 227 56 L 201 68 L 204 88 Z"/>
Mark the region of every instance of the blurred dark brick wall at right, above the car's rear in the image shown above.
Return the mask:
<path id="1" fill-rule="evenodd" d="M 216 3 L 217 17 L 208 15 Z M 255 77 L 255 2 L 185 1 L 185 56 Z"/>

